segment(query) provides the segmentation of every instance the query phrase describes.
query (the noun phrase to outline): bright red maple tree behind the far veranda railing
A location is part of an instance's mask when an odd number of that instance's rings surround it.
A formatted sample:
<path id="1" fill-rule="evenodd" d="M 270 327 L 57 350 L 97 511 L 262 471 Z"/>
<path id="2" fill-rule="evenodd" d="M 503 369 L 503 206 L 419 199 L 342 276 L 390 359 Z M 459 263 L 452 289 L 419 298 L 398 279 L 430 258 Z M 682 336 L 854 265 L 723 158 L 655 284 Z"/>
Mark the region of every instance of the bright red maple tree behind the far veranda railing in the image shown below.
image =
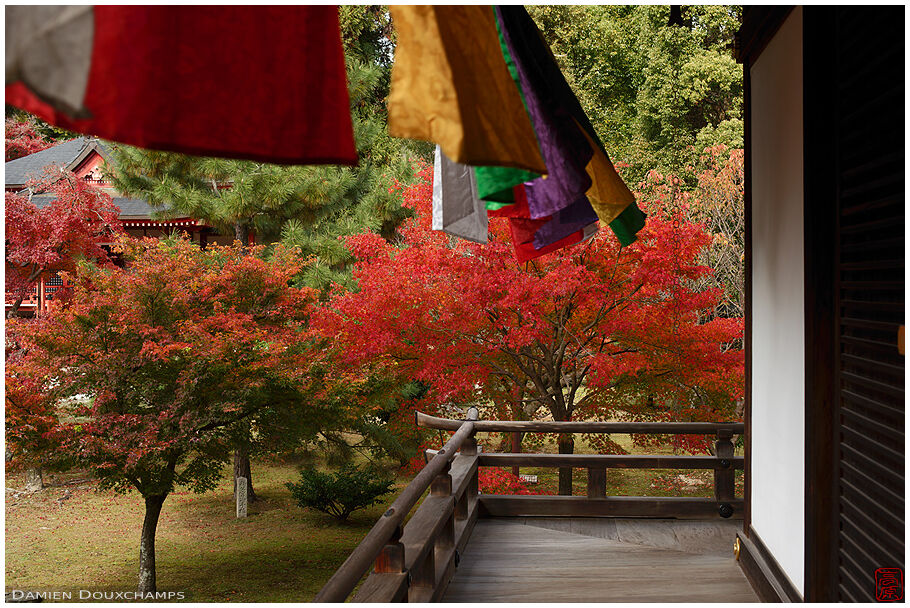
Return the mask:
<path id="1" fill-rule="evenodd" d="M 430 387 L 424 404 L 478 403 L 503 418 L 729 419 L 742 391 L 741 319 L 703 322 L 722 296 L 699 289 L 710 236 L 652 211 L 636 243 L 607 230 L 518 264 L 508 226 L 476 245 L 430 230 L 431 172 L 403 192 L 416 219 L 390 244 L 349 238 L 358 290 L 318 326 L 349 366 L 383 366 Z M 707 398 L 722 395 L 723 398 Z M 602 436 L 602 451 L 619 451 Z M 571 453 L 571 435 L 557 438 Z M 706 448 L 707 445 L 694 447 Z M 560 471 L 560 493 L 571 491 Z"/>

